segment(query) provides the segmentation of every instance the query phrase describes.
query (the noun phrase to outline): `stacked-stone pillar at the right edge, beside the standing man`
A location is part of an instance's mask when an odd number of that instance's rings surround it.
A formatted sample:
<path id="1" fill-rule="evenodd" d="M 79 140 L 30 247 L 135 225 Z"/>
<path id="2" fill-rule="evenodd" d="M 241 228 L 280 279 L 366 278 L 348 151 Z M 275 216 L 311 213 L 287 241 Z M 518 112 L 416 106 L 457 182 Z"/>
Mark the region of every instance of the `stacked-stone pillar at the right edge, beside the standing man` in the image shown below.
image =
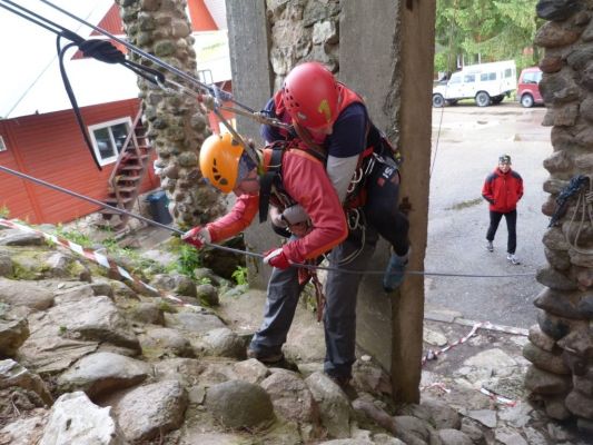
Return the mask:
<path id="1" fill-rule="evenodd" d="M 542 211 L 552 216 L 555 199 L 577 175 L 593 190 L 593 1 L 537 3 L 548 20 L 535 43 L 545 49 L 540 89 L 547 107 L 543 125 L 552 127 L 554 152 L 544 161 L 550 197 Z M 584 199 L 584 195 L 582 199 Z M 567 200 L 566 212 L 544 235 L 548 266 L 537 274 L 546 288 L 534 304 L 537 325 L 523 350 L 532 366 L 525 385 L 532 398 L 555 419 L 577 418 L 593 432 L 593 204 Z"/>

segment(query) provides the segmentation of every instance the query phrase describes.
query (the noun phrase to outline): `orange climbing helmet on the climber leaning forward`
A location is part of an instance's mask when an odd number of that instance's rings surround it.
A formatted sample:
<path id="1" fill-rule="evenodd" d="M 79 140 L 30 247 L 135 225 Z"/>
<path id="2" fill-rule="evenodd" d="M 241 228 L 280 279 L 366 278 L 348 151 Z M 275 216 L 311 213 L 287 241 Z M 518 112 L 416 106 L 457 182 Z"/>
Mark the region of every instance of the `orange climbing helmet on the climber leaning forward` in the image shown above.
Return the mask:
<path id="1" fill-rule="evenodd" d="M 217 189 L 229 194 L 237 184 L 243 146 L 230 134 L 211 135 L 200 149 L 200 170 Z"/>

